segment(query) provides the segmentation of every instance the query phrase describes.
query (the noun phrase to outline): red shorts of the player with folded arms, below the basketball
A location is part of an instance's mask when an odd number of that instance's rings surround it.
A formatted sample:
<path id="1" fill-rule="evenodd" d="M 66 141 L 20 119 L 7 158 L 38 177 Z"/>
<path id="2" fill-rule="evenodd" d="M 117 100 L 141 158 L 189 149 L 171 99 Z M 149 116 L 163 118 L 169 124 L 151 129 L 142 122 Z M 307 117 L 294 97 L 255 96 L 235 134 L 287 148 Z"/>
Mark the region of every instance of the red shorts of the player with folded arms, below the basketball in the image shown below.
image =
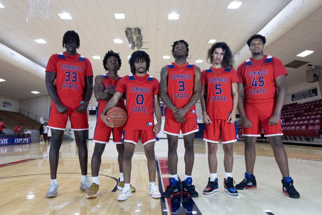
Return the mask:
<path id="1" fill-rule="evenodd" d="M 113 143 L 121 144 L 123 126 L 111 128 L 105 124 L 96 124 L 93 142 L 108 143 L 111 133 L 113 134 Z"/>

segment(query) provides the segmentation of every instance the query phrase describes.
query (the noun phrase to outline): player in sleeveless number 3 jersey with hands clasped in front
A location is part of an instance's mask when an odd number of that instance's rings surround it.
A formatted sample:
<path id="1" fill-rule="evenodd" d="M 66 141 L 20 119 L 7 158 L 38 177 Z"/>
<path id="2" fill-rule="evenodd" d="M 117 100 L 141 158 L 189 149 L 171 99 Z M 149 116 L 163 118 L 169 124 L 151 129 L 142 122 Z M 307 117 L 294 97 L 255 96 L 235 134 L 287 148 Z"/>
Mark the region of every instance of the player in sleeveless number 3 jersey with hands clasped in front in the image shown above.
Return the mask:
<path id="1" fill-rule="evenodd" d="M 180 130 L 185 144 L 185 181 L 182 190 L 185 195 L 197 197 L 198 193 L 192 184 L 191 172 L 194 165 L 194 132 L 199 131 L 195 103 L 200 98 L 200 68 L 187 62 L 188 43 L 184 40 L 175 41 L 172 55 L 175 62 L 161 69 L 160 97 L 166 105 L 166 122 L 164 133 L 168 139 L 168 159 L 171 172 L 170 185 L 163 197 L 181 195 L 178 182 L 178 136 Z"/>

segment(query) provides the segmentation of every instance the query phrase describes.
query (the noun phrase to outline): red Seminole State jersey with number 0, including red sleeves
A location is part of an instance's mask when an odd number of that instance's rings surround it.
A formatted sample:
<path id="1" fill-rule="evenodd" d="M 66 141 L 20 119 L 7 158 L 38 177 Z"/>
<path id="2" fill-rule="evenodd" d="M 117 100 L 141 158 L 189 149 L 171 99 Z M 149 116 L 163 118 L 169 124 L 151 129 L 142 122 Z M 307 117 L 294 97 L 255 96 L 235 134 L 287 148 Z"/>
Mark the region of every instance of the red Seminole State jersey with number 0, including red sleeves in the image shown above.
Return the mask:
<path id="1" fill-rule="evenodd" d="M 153 95 L 159 94 L 159 82 L 149 74 L 126 75 L 121 78 L 115 91 L 126 93 L 126 130 L 151 130 L 154 127 Z"/>

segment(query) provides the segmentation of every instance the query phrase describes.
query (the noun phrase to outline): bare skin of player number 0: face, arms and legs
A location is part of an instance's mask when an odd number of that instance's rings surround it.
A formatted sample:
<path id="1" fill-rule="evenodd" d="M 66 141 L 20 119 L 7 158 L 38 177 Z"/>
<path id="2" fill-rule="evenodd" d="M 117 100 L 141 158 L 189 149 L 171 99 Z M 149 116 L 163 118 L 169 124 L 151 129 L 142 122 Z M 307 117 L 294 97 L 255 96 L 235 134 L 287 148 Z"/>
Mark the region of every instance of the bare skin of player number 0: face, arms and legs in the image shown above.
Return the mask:
<path id="1" fill-rule="evenodd" d="M 147 63 L 145 61 L 135 62 L 134 67 L 136 69 L 135 75 L 144 76 L 146 74 Z M 122 94 L 116 91 L 113 97 L 109 100 L 109 103 L 106 105 L 102 114 L 100 115 L 102 121 L 111 128 L 113 128 L 114 126 L 112 123 L 107 121 L 107 119 L 109 118 L 106 116 L 106 113 L 109 109 L 116 105 L 121 96 Z M 153 107 L 157 121 L 157 123 L 153 127 L 153 132 L 157 134 L 161 131 L 161 107 L 158 95 L 153 95 Z M 144 145 L 150 182 L 156 181 L 156 158 L 154 153 L 154 145 L 155 142 L 149 142 L 148 144 Z M 126 184 L 130 183 L 131 180 L 132 157 L 134 154 L 134 149 L 135 144 L 131 142 L 124 142 L 123 175 L 124 183 Z"/>

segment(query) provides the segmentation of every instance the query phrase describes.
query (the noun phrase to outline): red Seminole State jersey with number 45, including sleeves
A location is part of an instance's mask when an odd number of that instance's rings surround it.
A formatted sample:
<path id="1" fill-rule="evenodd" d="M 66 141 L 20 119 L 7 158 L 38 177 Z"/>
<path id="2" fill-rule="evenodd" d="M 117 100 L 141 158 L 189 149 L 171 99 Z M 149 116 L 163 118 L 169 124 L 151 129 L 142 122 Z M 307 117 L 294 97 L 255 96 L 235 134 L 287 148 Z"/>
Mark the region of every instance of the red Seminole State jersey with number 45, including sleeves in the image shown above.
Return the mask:
<path id="1" fill-rule="evenodd" d="M 275 102 L 277 90 L 275 78 L 287 75 L 282 62 L 269 55 L 254 61 L 249 58 L 238 66 L 237 76 L 244 85 L 244 103 Z"/>

